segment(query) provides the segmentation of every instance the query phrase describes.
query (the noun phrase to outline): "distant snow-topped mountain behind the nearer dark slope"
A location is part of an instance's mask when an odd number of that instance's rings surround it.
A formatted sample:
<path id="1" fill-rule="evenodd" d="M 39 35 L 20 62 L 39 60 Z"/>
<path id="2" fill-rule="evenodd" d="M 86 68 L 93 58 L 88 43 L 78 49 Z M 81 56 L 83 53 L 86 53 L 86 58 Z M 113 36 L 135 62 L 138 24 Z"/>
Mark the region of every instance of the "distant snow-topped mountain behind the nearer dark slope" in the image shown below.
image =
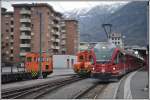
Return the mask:
<path id="1" fill-rule="evenodd" d="M 79 21 L 80 41 L 106 41 L 106 35 L 101 27 L 106 21 L 106 17 L 119 8 L 124 3 L 114 5 L 100 5 L 85 9 L 74 9 L 66 12 L 66 18 L 75 18 Z"/>

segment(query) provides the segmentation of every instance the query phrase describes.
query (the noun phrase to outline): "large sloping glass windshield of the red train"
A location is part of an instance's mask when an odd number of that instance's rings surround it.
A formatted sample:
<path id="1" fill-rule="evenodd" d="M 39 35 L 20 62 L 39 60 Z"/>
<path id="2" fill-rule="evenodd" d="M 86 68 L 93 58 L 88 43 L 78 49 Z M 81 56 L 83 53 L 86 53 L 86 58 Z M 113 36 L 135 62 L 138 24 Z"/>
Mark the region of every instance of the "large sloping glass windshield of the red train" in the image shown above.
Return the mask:
<path id="1" fill-rule="evenodd" d="M 97 63 L 107 63 L 111 60 L 115 46 L 113 44 L 97 44 L 94 47 Z"/>

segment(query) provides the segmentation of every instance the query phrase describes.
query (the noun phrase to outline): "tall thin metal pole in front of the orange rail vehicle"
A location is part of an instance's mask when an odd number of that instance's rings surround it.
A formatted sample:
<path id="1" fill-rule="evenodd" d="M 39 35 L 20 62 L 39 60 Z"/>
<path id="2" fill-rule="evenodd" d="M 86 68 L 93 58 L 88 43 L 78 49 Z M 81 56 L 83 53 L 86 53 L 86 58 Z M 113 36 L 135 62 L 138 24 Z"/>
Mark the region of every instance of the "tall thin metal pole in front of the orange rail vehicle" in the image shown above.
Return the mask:
<path id="1" fill-rule="evenodd" d="M 39 64 L 39 79 L 43 78 L 42 75 L 42 14 L 39 13 L 40 16 L 40 64 Z"/>

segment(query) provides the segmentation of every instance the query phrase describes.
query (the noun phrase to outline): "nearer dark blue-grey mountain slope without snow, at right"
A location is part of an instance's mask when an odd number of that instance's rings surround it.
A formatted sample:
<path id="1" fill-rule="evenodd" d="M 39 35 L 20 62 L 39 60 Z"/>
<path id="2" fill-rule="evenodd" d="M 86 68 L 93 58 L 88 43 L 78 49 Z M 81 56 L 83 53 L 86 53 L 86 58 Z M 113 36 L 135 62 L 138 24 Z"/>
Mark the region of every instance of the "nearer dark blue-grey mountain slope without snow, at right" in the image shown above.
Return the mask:
<path id="1" fill-rule="evenodd" d="M 121 32 L 127 45 L 146 45 L 147 2 L 131 2 L 109 16 L 113 31 Z"/>

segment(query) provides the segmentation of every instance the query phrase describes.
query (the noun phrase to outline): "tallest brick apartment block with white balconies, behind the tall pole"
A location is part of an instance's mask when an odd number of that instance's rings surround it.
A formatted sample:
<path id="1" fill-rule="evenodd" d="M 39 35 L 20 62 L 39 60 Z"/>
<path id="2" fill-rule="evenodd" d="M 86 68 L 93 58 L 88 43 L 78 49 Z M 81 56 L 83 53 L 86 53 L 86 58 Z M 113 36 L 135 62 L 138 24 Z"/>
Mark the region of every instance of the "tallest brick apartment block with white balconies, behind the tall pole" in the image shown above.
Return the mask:
<path id="1" fill-rule="evenodd" d="M 60 20 L 62 14 L 54 11 L 46 3 L 13 4 L 12 6 L 14 7 L 14 53 L 16 60 L 24 61 L 27 52 L 39 52 L 40 31 L 42 34 L 42 51 L 51 55 L 60 54 Z"/>

